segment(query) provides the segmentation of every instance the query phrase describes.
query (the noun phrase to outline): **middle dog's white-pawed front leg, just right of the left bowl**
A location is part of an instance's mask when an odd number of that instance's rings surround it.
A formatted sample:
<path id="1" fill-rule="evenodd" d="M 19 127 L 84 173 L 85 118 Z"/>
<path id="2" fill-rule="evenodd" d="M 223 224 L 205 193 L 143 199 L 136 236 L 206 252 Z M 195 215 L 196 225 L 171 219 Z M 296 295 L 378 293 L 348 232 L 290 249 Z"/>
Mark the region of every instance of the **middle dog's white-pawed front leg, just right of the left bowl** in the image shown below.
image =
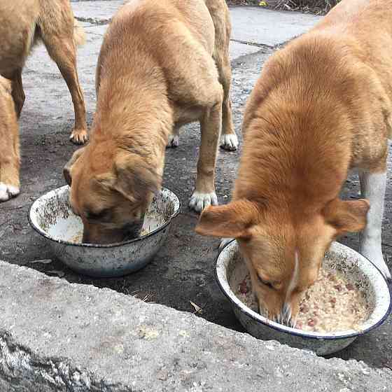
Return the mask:
<path id="1" fill-rule="evenodd" d="M 197 162 L 196 189 L 189 202 L 190 208 L 197 212 L 201 212 L 211 204 L 213 206 L 218 204 L 215 193 L 215 165 L 221 125 L 222 98 L 221 102 L 207 109 L 200 121 L 202 142 Z"/>

